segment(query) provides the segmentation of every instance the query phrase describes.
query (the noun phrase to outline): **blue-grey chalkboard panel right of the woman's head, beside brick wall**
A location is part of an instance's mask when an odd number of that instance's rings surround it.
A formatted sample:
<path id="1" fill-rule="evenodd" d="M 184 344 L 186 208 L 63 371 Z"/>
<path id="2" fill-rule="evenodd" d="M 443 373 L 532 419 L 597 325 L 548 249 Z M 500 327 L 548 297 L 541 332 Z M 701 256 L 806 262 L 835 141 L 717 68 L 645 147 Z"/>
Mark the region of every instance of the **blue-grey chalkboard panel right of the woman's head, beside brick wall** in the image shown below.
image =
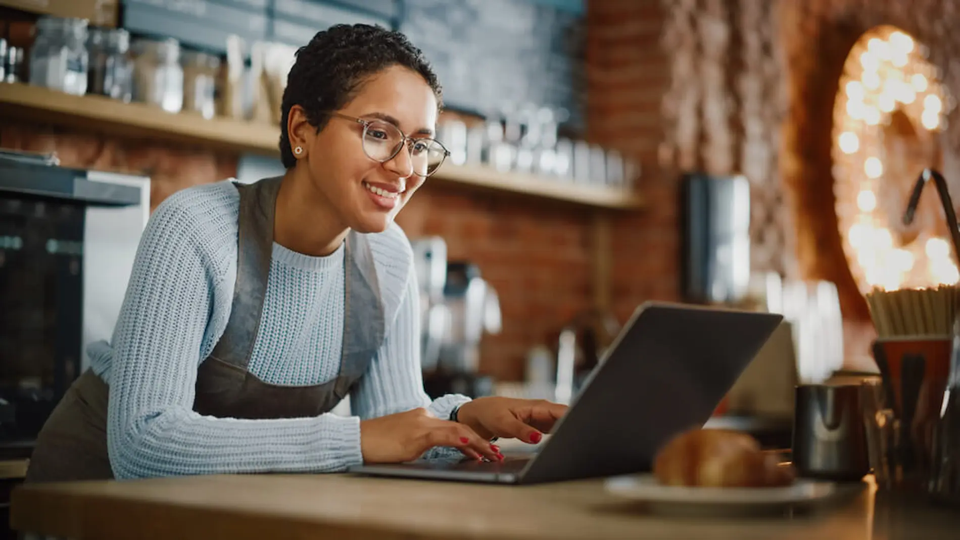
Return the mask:
<path id="1" fill-rule="evenodd" d="M 400 31 L 423 51 L 450 108 L 564 108 L 582 124 L 583 17 L 517 0 L 405 0 Z"/>

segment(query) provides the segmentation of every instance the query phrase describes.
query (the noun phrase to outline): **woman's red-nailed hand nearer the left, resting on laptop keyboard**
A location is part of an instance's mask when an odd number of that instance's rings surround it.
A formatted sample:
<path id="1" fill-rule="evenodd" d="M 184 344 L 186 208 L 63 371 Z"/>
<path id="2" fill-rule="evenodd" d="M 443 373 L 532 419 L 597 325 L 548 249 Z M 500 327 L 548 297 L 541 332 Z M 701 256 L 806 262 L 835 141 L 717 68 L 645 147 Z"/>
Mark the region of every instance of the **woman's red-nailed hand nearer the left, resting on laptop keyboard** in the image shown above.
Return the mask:
<path id="1" fill-rule="evenodd" d="M 435 446 L 457 448 L 473 459 L 503 458 L 496 445 L 474 433 L 467 425 L 441 420 L 425 409 L 360 422 L 360 451 L 365 463 L 412 461 Z"/>

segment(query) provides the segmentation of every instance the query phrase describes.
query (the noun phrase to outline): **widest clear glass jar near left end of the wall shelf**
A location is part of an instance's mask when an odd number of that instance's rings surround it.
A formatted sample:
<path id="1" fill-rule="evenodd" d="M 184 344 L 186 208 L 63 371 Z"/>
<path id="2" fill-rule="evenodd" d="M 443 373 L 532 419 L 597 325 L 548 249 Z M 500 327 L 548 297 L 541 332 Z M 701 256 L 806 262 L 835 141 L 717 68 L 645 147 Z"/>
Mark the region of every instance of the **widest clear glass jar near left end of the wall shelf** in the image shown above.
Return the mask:
<path id="1" fill-rule="evenodd" d="M 30 50 L 30 83 L 67 94 L 86 93 L 86 19 L 43 16 Z"/>

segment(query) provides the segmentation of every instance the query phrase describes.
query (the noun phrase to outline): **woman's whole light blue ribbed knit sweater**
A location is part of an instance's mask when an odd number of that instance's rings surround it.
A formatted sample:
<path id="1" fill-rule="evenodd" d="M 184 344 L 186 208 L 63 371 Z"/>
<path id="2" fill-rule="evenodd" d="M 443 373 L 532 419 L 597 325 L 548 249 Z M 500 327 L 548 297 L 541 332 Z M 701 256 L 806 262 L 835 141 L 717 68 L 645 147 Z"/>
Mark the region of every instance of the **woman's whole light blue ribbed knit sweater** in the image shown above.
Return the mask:
<path id="1" fill-rule="evenodd" d="M 238 206 L 226 180 L 164 200 L 141 239 L 111 343 L 90 346 L 91 367 L 110 386 L 108 448 L 117 478 L 341 471 L 363 460 L 361 418 L 418 407 L 446 418 L 468 401 L 448 395 L 431 403 L 423 391 L 417 277 L 410 243 L 394 224 L 370 239 L 383 301 L 396 318 L 350 395 L 353 416 L 246 420 L 194 412 L 197 366 L 227 327 Z M 275 243 L 249 369 L 278 385 L 333 379 L 343 315 L 344 247 L 311 257 Z"/>

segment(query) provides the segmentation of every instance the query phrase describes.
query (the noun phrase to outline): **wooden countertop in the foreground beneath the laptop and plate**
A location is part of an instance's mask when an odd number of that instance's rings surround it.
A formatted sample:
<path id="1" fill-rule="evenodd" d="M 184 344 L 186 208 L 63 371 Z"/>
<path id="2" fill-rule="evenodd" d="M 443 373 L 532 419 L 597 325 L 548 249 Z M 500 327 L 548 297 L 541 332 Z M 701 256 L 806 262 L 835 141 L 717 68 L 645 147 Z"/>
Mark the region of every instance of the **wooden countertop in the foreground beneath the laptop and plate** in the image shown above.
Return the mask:
<path id="1" fill-rule="evenodd" d="M 74 540 L 229 538 L 875 540 L 960 538 L 960 512 L 886 505 L 864 488 L 816 513 L 669 517 L 602 481 L 496 486 L 348 475 L 24 485 L 12 527 Z"/>

